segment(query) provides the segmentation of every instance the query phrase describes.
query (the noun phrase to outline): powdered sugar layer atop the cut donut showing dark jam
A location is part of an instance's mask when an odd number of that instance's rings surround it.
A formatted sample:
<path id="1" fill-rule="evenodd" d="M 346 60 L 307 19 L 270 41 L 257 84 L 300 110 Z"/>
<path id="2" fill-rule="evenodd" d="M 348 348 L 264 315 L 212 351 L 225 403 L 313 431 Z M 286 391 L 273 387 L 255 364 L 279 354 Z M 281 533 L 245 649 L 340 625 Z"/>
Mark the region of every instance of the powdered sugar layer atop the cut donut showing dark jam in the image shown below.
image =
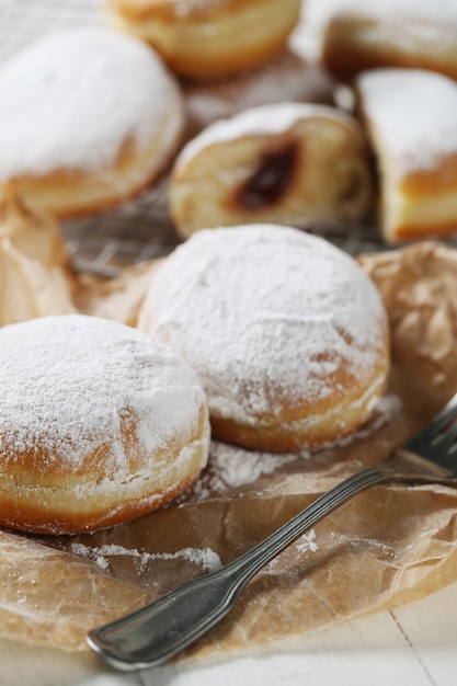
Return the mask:
<path id="1" fill-rule="evenodd" d="M 329 105 L 306 102 L 281 102 L 260 105 L 259 107 L 251 107 L 240 112 L 230 118 L 210 124 L 184 146 L 176 159 L 175 169 L 179 171 L 185 167 L 196 155 L 209 146 L 243 136 L 282 134 L 298 122 L 310 117 L 338 121 L 352 128 L 357 126 L 357 123 L 351 115 Z"/>

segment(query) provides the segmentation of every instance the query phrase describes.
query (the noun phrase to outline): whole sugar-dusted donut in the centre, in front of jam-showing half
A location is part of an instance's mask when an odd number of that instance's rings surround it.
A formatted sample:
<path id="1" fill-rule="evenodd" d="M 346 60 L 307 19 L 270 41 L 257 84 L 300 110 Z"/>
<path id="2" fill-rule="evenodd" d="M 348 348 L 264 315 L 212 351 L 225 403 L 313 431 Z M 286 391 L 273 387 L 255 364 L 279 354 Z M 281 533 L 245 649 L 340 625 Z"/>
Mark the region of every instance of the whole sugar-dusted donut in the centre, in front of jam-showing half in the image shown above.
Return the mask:
<path id="1" fill-rule="evenodd" d="M 344 436 L 374 411 L 389 368 L 369 277 L 323 239 L 283 226 L 192 236 L 158 270 L 138 325 L 196 370 L 213 435 L 252 448 Z"/>

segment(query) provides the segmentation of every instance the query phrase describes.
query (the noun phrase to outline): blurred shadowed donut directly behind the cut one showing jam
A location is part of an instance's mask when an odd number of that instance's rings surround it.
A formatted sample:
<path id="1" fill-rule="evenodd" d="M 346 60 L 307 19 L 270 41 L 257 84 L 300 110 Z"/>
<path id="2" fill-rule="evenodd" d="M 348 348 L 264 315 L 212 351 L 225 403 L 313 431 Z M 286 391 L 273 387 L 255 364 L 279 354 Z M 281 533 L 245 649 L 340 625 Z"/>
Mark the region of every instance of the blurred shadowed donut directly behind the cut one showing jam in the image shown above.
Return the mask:
<path id="1" fill-rule="evenodd" d="M 217 119 L 277 102 L 334 104 L 336 84 L 320 65 L 284 49 L 267 62 L 210 81 L 184 81 L 187 135 Z"/>

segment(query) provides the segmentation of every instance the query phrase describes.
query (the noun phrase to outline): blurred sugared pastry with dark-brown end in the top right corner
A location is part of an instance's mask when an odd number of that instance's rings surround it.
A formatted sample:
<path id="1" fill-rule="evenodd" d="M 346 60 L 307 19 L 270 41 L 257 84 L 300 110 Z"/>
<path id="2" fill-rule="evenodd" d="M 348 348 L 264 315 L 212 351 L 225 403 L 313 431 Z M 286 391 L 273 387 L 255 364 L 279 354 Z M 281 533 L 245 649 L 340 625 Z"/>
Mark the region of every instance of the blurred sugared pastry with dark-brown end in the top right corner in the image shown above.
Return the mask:
<path id="1" fill-rule="evenodd" d="M 457 79 L 457 4 L 349 0 L 325 25 L 322 61 L 343 80 L 374 67 L 431 69 Z"/>

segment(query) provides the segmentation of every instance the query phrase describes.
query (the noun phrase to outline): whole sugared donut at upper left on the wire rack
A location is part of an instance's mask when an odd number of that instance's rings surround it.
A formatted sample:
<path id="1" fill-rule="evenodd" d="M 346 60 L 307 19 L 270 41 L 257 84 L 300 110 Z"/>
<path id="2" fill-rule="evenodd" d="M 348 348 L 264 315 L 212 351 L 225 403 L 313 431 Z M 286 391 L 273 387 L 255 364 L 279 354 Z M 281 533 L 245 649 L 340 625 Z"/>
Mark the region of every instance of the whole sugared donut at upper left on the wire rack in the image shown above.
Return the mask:
<path id="1" fill-rule="evenodd" d="M 184 114 L 161 59 L 98 28 L 52 33 L 0 69 L 0 183 L 58 217 L 93 213 L 150 184 Z"/>

